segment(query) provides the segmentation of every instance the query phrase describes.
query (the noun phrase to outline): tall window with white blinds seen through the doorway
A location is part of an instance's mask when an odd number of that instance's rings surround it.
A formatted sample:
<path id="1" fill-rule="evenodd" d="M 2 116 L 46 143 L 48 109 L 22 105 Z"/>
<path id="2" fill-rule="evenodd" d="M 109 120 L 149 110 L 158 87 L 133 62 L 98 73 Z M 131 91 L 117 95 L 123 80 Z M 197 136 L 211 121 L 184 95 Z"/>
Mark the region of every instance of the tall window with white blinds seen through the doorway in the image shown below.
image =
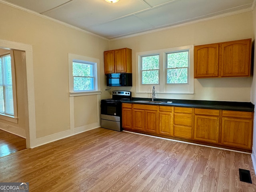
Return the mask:
<path id="1" fill-rule="evenodd" d="M 0 114 L 14 117 L 14 98 L 13 98 L 13 80 L 11 54 L 0 56 Z M 14 82 L 15 83 L 15 82 Z M 15 86 L 14 86 L 15 87 Z"/>

